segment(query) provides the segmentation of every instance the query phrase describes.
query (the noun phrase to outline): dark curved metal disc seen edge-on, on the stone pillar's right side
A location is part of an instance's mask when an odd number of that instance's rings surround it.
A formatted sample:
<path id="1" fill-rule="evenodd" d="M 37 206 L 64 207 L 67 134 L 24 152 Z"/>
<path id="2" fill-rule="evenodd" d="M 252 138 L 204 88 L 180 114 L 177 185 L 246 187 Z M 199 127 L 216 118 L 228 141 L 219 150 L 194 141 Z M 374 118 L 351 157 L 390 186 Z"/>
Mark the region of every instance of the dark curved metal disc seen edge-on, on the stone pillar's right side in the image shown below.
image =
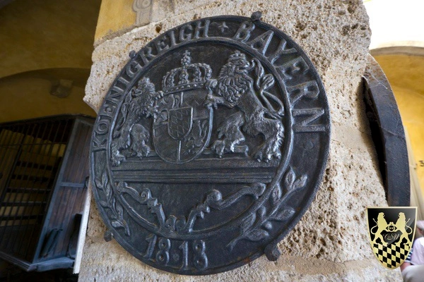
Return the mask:
<path id="1" fill-rule="evenodd" d="M 411 184 L 408 149 L 401 114 L 382 68 L 371 55 L 368 55 L 367 59 L 364 100 L 387 204 L 394 207 L 408 207 Z"/>

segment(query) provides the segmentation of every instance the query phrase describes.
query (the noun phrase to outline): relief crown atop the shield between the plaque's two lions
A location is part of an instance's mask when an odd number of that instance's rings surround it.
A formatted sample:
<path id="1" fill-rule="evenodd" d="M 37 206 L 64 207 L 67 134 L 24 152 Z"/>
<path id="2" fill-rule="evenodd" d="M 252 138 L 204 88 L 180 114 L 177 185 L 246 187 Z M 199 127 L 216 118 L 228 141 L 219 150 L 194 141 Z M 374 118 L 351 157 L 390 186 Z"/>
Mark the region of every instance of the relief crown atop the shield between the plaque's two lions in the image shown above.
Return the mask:
<path id="1" fill-rule="evenodd" d="M 202 88 L 205 82 L 211 78 L 211 66 L 206 63 L 192 63 L 192 57 L 187 50 L 184 52 L 181 64 L 181 68 L 168 71 L 163 77 L 162 91 L 165 94 Z"/>

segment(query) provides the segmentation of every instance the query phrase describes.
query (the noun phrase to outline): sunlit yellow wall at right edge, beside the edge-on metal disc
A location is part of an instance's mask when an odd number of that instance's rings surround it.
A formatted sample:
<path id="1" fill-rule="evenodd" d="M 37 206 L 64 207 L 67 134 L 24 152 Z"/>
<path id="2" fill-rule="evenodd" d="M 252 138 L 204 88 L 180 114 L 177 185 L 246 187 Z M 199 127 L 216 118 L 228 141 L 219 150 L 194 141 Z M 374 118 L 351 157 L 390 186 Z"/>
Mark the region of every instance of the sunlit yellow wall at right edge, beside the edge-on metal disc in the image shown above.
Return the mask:
<path id="1" fill-rule="evenodd" d="M 396 54 L 379 55 L 375 59 L 387 75 L 408 130 L 424 193 L 424 57 Z"/>

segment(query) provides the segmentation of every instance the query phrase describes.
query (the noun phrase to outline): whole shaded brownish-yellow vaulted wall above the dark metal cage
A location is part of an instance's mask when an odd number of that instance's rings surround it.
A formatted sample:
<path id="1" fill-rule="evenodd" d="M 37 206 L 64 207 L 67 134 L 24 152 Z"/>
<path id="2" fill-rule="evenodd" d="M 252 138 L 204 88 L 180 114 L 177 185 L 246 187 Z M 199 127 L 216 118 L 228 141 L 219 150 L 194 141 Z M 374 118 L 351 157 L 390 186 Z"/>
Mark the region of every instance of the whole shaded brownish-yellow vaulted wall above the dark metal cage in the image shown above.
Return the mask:
<path id="1" fill-rule="evenodd" d="M 95 112 L 83 102 L 101 0 L 16 0 L 0 8 L 0 123 Z M 66 98 L 52 83 L 71 80 Z"/>

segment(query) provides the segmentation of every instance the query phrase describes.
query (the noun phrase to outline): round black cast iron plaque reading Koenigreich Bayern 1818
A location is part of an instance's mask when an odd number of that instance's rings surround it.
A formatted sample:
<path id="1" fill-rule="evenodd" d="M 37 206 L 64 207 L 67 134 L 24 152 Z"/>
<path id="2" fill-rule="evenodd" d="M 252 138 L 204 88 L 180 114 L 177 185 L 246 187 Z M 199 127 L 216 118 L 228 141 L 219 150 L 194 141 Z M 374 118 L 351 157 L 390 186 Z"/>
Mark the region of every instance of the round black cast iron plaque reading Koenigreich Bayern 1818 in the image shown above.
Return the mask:
<path id="1" fill-rule="evenodd" d="M 276 260 L 314 198 L 329 152 L 324 88 L 259 18 L 168 30 L 131 52 L 105 97 L 95 200 L 109 235 L 146 264 L 197 275 Z"/>

